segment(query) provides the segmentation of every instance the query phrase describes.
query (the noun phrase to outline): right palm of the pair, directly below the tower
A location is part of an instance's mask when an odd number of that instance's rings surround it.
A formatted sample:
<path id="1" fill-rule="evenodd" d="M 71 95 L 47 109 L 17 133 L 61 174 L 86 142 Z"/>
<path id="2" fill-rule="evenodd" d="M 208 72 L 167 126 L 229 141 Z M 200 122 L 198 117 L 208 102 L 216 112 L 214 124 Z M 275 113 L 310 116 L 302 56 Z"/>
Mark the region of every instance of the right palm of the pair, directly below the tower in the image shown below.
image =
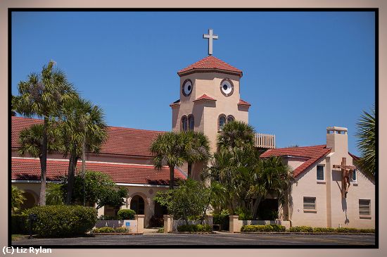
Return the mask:
<path id="1" fill-rule="evenodd" d="M 207 162 L 210 159 L 210 141 L 203 132 L 181 132 L 185 139 L 185 158 L 188 165 L 188 177 L 191 177 L 192 165 Z"/>

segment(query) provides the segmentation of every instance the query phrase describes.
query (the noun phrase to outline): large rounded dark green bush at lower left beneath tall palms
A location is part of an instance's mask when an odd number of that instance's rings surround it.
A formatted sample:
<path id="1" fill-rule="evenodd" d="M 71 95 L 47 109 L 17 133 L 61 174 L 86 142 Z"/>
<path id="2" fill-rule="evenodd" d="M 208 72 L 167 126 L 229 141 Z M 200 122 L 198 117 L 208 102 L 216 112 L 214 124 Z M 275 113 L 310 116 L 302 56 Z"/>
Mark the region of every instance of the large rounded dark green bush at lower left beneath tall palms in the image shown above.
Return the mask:
<path id="1" fill-rule="evenodd" d="M 96 224 L 97 211 L 84 206 L 36 206 L 25 211 L 36 214 L 32 231 L 40 237 L 72 237 L 91 230 Z"/>

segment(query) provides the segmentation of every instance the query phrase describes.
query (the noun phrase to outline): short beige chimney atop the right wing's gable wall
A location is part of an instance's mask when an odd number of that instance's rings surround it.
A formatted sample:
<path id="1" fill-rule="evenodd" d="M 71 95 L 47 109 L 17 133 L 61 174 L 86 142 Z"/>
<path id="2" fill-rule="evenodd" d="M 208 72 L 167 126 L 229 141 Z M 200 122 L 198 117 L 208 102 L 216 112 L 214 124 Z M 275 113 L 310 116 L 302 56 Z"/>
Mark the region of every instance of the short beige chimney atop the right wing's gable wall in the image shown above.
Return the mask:
<path id="1" fill-rule="evenodd" d="M 331 148 L 331 152 L 348 153 L 348 129 L 326 127 L 326 147 Z"/>

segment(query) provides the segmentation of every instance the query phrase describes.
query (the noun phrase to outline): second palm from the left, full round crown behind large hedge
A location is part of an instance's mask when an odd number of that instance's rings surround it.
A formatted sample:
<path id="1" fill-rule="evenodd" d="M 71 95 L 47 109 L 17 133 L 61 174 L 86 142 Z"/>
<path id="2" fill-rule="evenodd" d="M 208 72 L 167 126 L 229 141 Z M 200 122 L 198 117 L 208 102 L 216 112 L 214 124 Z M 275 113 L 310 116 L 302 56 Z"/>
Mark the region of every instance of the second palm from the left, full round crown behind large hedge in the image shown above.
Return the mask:
<path id="1" fill-rule="evenodd" d="M 81 98 L 66 101 L 58 120 L 53 123 L 56 124 L 56 132 L 61 135 L 63 154 L 69 157 L 66 204 L 70 204 L 77 162 L 82 158 L 84 178 L 86 152 L 100 151 L 107 138 L 106 123 L 102 109 Z"/>

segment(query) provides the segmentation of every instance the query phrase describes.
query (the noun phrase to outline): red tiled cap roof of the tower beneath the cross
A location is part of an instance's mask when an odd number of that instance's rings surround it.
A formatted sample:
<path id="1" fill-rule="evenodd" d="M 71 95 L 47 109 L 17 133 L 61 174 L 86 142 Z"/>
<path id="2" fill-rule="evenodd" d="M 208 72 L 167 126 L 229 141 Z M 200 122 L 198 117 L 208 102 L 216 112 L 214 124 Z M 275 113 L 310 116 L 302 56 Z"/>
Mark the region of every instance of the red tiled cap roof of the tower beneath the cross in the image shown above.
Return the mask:
<path id="1" fill-rule="evenodd" d="M 195 71 L 207 71 L 207 70 L 216 70 L 218 72 L 233 73 L 242 77 L 242 70 L 235 68 L 229 63 L 216 58 L 214 56 L 207 56 L 200 61 L 197 61 L 194 64 L 189 65 L 188 67 L 179 70 L 177 74 L 179 76 L 185 75 L 186 73 L 194 73 Z"/>

